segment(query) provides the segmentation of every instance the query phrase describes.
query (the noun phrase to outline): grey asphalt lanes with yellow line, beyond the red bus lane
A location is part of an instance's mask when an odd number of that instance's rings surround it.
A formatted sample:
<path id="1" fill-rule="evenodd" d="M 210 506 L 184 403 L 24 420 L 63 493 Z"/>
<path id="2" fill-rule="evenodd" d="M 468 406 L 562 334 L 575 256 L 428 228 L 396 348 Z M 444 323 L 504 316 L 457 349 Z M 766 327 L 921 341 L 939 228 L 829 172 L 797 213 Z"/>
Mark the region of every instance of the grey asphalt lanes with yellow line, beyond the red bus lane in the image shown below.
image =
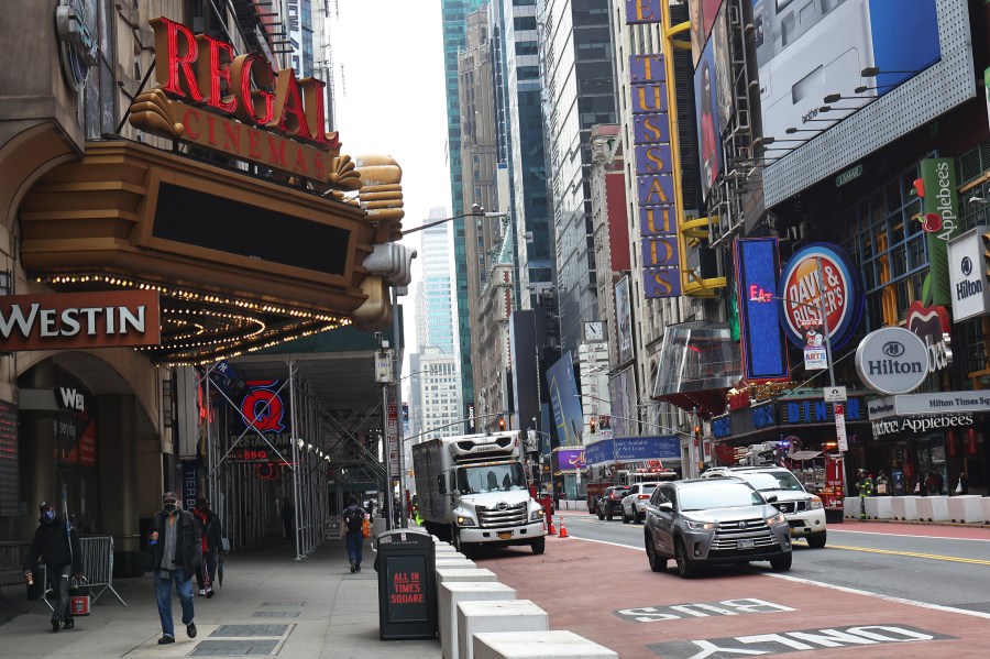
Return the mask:
<path id="1" fill-rule="evenodd" d="M 568 532 L 576 538 L 644 547 L 641 524 L 623 524 L 619 518 L 603 521 L 594 515 L 565 519 Z M 859 521 L 829 525 L 824 549 L 794 542 L 794 563 L 785 575 L 990 613 L 990 529 Z"/>

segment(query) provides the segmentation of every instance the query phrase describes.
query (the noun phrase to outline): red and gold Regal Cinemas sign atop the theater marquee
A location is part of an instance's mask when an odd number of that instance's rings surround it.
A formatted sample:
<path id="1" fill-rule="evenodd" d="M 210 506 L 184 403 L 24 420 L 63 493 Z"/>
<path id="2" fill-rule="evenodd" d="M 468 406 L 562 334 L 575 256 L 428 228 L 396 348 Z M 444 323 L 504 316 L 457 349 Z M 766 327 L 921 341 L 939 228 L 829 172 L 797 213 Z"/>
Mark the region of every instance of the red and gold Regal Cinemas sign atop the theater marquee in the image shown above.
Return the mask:
<path id="1" fill-rule="evenodd" d="M 155 31 L 157 85 L 134 99 L 131 124 L 293 176 L 340 185 L 340 141 L 326 131 L 326 84 L 275 73 L 262 55 L 165 18 Z M 360 179 L 353 177 L 360 187 Z M 351 187 L 351 186 L 343 186 Z"/>

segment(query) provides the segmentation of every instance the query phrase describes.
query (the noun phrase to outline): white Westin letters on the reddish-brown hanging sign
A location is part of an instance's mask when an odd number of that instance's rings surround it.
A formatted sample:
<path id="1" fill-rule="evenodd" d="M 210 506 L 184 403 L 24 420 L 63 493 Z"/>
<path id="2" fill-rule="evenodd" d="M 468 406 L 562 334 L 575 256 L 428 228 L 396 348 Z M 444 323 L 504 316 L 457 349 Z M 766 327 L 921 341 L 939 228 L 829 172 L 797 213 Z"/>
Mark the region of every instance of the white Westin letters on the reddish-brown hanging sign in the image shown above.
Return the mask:
<path id="1" fill-rule="evenodd" d="M 24 315 L 20 305 L 10 308 L 10 315 L 0 312 L 0 334 L 9 339 L 16 328 L 22 336 L 29 338 L 36 334 L 41 338 L 88 337 L 97 334 L 145 333 L 145 310 L 143 306 L 135 309 L 128 307 L 69 307 L 62 309 L 42 309 L 35 303 Z"/>

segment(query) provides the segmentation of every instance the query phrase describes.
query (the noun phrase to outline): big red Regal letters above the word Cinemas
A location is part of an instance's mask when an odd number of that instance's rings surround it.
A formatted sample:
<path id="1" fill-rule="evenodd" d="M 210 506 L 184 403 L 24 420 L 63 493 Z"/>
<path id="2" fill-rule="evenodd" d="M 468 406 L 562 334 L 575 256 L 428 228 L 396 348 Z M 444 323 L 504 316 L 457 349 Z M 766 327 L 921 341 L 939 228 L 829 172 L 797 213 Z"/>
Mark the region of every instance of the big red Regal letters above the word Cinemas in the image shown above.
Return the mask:
<path id="1" fill-rule="evenodd" d="M 261 55 L 234 56 L 231 44 L 196 36 L 165 18 L 150 23 L 155 31 L 155 74 L 163 91 L 297 140 L 326 149 L 338 145 L 336 133 L 330 134 L 331 141 L 323 130 L 322 80 L 297 80 L 292 68 L 276 75 Z"/>

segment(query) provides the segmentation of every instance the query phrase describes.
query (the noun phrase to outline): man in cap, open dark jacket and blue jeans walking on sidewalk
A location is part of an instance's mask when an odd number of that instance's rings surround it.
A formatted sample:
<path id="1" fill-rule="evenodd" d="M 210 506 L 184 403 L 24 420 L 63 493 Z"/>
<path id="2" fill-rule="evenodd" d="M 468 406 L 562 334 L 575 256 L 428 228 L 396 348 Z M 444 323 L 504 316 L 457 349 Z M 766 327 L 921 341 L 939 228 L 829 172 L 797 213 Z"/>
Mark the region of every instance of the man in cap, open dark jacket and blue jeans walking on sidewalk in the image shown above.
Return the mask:
<path id="1" fill-rule="evenodd" d="M 154 570 L 155 598 L 162 619 L 158 645 L 175 642 L 172 620 L 172 584 L 183 605 L 183 624 L 189 638 L 196 638 L 193 623 L 193 575 L 202 564 L 202 535 L 193 515 L 178 508 L 175 492 L 162 497 L 162 512 L 152 518 L 148 552 Z"/>

